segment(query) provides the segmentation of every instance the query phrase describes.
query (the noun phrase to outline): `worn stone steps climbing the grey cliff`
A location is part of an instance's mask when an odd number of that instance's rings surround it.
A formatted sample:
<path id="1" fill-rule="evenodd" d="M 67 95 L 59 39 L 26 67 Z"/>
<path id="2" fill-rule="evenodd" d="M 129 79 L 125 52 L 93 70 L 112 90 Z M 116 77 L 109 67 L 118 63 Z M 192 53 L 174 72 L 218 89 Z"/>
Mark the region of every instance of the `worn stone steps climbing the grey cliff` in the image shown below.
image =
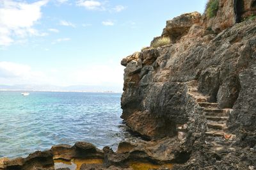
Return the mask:
<path id="1" fill-rule="evenodd" d="M 204 116 L 207 120 L 205 144 L 209 145 L 215 151 L 221 151 L 223 149 L 234 150 L 232 144 L 236 139 L 236 135 L 226 133 L 227 120 L 232 109 L 220 109 L 217 103 L 207 102 L 209 97 L 198 92 L 197 81 L 188 82 L 188 95 L 193 97 L 196 104 L 202 107 L 204 111 Z M 179 132 L 186 132 L 182 127 L 184 125 L 177 125 L 178 137 Z"/>

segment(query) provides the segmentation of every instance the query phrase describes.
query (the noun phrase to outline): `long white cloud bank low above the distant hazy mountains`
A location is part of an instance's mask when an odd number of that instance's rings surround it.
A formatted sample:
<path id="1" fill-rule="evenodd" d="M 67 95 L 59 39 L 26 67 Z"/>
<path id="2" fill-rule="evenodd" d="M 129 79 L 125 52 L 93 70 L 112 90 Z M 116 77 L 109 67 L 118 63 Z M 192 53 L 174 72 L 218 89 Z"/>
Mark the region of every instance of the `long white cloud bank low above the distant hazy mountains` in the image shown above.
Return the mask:
<path id="1" fill-rule="evenodd" d="M 123 84 L 124 67 L 116 63 L 102 63 L 97 66 L 57 70 L 47 68 L 44 72 L 29 65 L 0 61 L 1 84 L 52 84 L 56 86 L 99 85 L 119 86 Z"/>

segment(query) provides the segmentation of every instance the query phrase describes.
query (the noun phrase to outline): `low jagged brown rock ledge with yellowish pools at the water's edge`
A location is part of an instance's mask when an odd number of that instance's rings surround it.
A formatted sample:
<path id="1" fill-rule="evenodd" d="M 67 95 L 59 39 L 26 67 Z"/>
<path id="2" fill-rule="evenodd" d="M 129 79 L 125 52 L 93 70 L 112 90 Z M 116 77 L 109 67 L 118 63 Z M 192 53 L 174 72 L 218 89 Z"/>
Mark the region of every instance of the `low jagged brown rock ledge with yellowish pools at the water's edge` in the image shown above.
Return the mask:
<path id="1" fill-rule="evenodd" d="M 122 142 L 118 151 L 109 147 L 99 150 L 90 143 L 74 146 L 60 144 L 49 151 L 36 151 L 27 158 L 0 158 L 0 169 L 136 169 L 170 168 L 180 163 L 179 140 L 129 143 Z"/>

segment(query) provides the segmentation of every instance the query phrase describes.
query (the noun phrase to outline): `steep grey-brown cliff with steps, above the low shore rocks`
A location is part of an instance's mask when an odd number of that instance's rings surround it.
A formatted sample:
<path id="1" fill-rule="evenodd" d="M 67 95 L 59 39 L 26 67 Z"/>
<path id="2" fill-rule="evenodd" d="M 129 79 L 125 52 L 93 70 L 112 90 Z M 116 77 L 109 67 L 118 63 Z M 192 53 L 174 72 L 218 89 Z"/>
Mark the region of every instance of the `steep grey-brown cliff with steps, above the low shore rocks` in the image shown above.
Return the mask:
<path id="1" fill-rule="evenodd" d="M 234 3 L 220 1 L 213 19 L 194 12 L 168 20 L 161 37 L 170 45 L 122 60 L 122 118 L 132 130 L 180 140 L 228 134 L 255 146 L 256 21 L 236 24 Z M 241 17 L 255 13 L 255 1 L 242 4 Z"/>

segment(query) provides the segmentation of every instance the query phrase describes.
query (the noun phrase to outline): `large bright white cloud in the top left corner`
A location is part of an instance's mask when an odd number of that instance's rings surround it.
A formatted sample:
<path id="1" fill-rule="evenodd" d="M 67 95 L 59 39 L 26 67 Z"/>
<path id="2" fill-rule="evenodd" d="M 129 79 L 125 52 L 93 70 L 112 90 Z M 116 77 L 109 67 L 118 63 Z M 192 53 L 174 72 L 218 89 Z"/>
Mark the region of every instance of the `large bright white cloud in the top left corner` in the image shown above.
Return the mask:
<path id="1" fill-rule="evenodd" d="M 41 8 L 48 0 L 35 3 L 1 0 L 0 2 L 0 45 L 11 45 L 17 38 L 45 36 L 33 26 L 42 17 Z"/>

